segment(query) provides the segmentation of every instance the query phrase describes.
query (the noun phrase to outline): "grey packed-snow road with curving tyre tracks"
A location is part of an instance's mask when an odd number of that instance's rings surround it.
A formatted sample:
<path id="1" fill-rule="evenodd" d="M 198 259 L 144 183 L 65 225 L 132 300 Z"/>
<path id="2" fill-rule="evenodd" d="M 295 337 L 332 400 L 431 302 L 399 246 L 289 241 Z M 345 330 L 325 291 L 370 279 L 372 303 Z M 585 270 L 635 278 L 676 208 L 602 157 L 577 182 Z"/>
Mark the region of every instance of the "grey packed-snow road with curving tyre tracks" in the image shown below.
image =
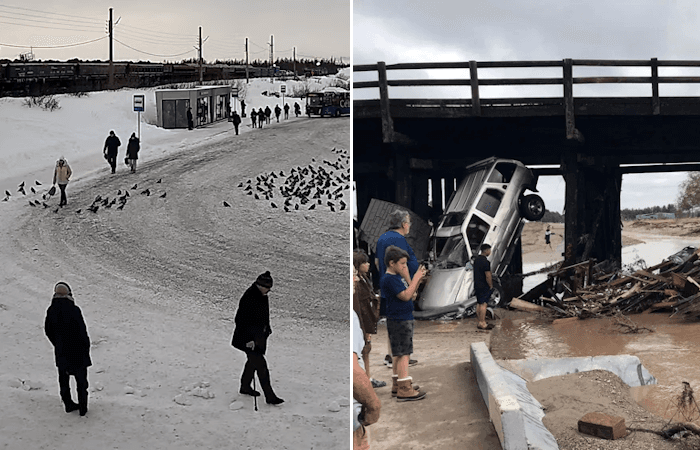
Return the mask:
<path id="1" fill-rule="evenodd" d="M 349 173 L 333 148 L 349 152 L 349 119 L 223 132 L 136 174 L 120 153 L 116 175 L 105 169 L 69 186 L 58 212 L 55 197 L 49 208 L 2 205 L 0 447 L 228 448 L 235 439 L 242 448 L 347 448 L 349 211 L 332 212 L 324 198 L 285 212 L 271 206 L 283 199 L 238 187 L 309 164 Z M 122 210 L 87 210 L 125 190 Z M 268 356 L 286 403 L 254 412 L 237 394 L 244 356 L 229 342 L 240 295 L 266 270 L 275 280 Z M 73 288 L 93 341 L 86 420 L 62 411 L 43 335 L 59 280 Z M 17 379 L 44 387 L 26 391 Z M 196 383 L 215 398 L 189 395 Z M 173 402 L 179 394 L 191 404 Z"/>

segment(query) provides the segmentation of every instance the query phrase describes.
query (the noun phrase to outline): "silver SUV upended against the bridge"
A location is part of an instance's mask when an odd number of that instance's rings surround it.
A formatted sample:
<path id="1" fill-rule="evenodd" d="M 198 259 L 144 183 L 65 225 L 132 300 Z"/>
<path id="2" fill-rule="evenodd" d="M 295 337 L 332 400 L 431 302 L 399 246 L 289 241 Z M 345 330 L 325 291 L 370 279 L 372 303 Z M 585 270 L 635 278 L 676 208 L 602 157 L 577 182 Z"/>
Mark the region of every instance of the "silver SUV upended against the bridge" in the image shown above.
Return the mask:
<path id="1" fill-rule="evenodd" d="M 489 306 L 503 302 L 500 278 L 508 269 L 524 220 L 540 220 L 545 207 L 537 178 L 521 162 L 489 158 L 467 167 L 430 240 L 430 277 L 418 299 L 418 318 L 476 310 L 472 262 L 491 245 L 494 292 Z"/>

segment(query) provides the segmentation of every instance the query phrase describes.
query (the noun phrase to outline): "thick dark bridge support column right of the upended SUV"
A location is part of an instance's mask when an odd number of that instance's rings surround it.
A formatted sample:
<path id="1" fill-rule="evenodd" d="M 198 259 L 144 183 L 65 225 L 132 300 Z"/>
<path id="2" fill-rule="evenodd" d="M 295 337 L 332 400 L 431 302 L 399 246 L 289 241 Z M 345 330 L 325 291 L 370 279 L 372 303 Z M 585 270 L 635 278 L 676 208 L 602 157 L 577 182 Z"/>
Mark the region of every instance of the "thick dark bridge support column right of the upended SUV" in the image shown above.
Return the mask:
<path id="1" fill-rule="evenodd" d="M 620 267 L 620 185 L 618 161 L 577 152 L 562 156 L 566 182 L 565 264 L 595 258 Z"/>

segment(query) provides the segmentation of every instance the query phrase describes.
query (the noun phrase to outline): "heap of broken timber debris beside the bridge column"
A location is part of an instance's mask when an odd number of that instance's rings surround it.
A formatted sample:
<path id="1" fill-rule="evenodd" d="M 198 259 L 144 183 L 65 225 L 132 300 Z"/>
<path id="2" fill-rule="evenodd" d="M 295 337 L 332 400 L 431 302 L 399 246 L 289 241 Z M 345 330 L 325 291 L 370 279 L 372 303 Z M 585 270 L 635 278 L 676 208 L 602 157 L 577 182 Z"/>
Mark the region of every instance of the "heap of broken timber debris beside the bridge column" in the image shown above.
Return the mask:
<path id="1" fill-rule="evenodd" d="M 584 261 L 550 273 L 545 282 L 514 299 L 513 306 L 534 303 L 560 318 L 647 310 L 700 317 L 699 258 L 699 249 L 686 247 L 652 267 L 641 262 L 631 269 L 608 271 L 607 261 Z"/>

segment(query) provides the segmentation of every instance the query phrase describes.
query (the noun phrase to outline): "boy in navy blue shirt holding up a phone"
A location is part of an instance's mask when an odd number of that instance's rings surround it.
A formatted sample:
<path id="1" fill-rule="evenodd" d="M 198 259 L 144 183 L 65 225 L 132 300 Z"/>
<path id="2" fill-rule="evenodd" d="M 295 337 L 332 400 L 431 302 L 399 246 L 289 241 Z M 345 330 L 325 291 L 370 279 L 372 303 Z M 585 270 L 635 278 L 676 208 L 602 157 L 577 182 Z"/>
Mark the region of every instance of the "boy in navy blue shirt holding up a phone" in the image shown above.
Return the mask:
<path id="1" fill-rule="evenodd" d="M 412 385 L 412 378 L 408 376 L 408 361 L 413 353 L 413 294 L 426 270 L 420 266 L 408 284 L 400 275 L 407 270 L 408 253 L 394 245 L 386 249 L 384 262 L 386 273 L 380 286 L 386 302 L 386 326 L 394 357 L 391 392 L 400 402 L 422 400 L 426 393 Z"/>

